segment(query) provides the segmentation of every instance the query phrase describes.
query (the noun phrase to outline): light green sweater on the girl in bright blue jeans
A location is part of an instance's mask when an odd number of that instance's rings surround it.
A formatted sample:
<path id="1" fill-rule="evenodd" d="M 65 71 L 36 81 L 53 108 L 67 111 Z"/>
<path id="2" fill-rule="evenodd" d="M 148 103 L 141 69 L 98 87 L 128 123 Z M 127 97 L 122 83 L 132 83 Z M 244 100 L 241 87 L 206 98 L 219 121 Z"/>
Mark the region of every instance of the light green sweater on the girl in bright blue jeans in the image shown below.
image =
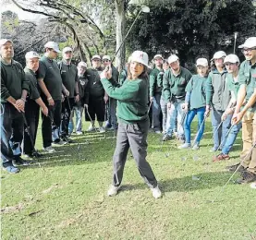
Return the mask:
<path id="1" fill-rule="evenodd" d="M 206 106 L 206 95 L 210 95 L 211 91 L 207 89 L 207 77 L 193 75 L 189 80 L 186 91 L 190 92 L 190 109 L 197 109 Z"/>

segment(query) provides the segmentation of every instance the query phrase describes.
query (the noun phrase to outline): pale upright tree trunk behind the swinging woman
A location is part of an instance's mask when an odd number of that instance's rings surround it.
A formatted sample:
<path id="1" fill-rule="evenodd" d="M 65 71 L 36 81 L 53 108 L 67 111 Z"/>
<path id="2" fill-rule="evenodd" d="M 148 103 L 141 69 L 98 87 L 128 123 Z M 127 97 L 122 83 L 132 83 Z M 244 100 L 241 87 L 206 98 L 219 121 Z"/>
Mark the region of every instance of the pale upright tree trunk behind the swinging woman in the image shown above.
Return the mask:
<path id="1" fill-rule="evenodd" d="M 126 28 L 125 0 L 116 0 L 116 51 L 120 47 L 125 38 Z M 126 64 L 126 45 L 125 42 L 121 46 L 116 55 L 116 67 L 118 71 L 123 69 Z"/>

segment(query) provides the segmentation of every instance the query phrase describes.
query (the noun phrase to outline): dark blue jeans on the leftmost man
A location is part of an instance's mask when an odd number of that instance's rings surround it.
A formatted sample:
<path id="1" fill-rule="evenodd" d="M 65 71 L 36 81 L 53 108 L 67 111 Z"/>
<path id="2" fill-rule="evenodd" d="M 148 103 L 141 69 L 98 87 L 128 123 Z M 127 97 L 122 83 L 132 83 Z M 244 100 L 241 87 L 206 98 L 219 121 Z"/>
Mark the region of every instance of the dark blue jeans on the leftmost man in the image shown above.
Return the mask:
<path id="1" fill-rule="evenodd" d="M 3 166 L 12 165 L 14 156 L 21 154 L 24 120 L 21 113 L 9 102 L 1 103 L 1 159 Z"/>

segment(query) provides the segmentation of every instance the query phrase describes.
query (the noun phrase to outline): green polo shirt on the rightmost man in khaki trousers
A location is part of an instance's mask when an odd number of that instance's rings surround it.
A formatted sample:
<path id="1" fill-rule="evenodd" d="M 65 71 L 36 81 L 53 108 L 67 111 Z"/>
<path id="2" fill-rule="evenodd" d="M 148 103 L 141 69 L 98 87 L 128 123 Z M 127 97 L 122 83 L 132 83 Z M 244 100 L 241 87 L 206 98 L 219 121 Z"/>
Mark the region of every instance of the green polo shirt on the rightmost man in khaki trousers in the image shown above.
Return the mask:
<path id="1" fill-rule="evenodd" d="M 246 85 L 246 101 L 248 102 L 256 88 L 256 63 L 251 65 L 250 61 L 243 61 L 239 68 L 238 81 L 239 86 L 243 84 Z M 256 112 L 256 102 L 252 105 L 249 111 Z"/>

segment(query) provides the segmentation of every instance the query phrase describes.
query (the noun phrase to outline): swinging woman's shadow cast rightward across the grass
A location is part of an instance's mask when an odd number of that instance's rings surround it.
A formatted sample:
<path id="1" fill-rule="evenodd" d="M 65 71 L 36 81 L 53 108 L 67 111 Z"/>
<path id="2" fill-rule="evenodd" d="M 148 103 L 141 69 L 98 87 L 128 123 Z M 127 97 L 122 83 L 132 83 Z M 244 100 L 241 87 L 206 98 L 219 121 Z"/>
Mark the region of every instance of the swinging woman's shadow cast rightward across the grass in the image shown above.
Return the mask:
<path id="1" fill-rule="evenodd" d="M 217 186 L 224 186 L 226 181 L 231 176 L 228 172 L 211 172 L 198 175 L 189 175 L 181 178 L 171 178 L 167 180 L 160 180 L 158 184 L 161 190 L 165 192 L 190 192 L 201 189 L 210 189 Z M 229 185 L 233 182 L 230 181 Z M 145 189 L 145 184 L 140 183 L 136 185 L 123 185 L 120 187 L 122 191 Z"/>

